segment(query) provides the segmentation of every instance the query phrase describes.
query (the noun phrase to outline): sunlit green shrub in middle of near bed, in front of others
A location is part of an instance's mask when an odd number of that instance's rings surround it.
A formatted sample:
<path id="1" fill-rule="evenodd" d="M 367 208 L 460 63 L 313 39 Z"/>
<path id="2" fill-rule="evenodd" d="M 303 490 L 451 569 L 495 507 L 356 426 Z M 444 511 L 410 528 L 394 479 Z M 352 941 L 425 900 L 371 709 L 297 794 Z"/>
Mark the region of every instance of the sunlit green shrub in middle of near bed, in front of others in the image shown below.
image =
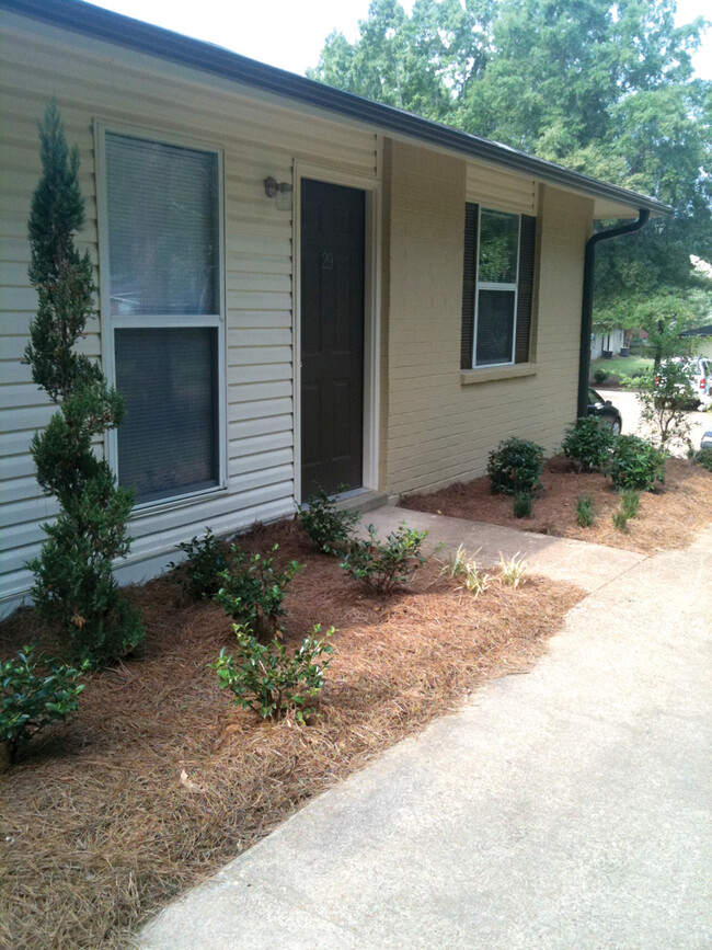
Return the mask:
<path id="1" fill-rule="evenodd" d="M 334 648 L 325 643 L 334 633 L 331 627 L 320 640 L 321 626 L 306 637 L 291 656 L 276 637 L 272 643 L 260 643 L 242 625 L 234 625 L 238 638 L 237 659 L 223 646 L 211 666 L 218 674 L 220 688 L 231 689 L 234 701 L 253 709 L 263 719 L 283 716 L 290 710 L 303 722 L 313 712 L 309 703 L 319 696 L 324 669 L 331 663 Z"/>

